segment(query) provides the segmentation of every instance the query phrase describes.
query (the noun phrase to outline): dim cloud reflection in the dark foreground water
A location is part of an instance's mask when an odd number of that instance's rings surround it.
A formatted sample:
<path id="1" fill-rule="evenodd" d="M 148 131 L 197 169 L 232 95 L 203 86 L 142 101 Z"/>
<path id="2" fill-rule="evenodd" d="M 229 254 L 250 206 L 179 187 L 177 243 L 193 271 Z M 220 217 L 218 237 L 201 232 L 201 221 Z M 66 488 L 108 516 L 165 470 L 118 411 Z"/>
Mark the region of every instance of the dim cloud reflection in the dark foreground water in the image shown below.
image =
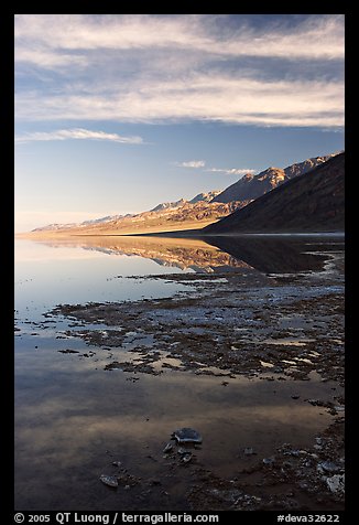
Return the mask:
<path id="1" fill-rule="evenodd" d="M 175 428 L 193 426 L 204 433 L 211 450 L 206 453 L 211 454 L 227 441 L 230 448 L 249 439 L 270 442 L 279 428 L 281 439 L 293 439 L 298 432 L 301 440 L 302 432 L 324 428 L 330 417 L 320 407 L 291 398 L 293 389 L 304 397 L 315 397 L 319 389 L 322 397 L 323 389 L 330 396 L 330 384 L 287 381 L 274 395 L 271 384 L 259 379 L 243 378 L 224 388 L 218 377 L 193 382 L 187 373 L 141 375 L 135 384 L 129 384 L 127 376 L 68 371 L 58 375 L 57 384 L 44 385 L 41 396 L 28 392 L 15 414 L 19 451 L 53 457 L 69 468 L 86 461 L 84 450 L 88 453 L 99 446 L 101 450 L 123 446 L 133 454 L 145 443 L 161 450 Z"/>

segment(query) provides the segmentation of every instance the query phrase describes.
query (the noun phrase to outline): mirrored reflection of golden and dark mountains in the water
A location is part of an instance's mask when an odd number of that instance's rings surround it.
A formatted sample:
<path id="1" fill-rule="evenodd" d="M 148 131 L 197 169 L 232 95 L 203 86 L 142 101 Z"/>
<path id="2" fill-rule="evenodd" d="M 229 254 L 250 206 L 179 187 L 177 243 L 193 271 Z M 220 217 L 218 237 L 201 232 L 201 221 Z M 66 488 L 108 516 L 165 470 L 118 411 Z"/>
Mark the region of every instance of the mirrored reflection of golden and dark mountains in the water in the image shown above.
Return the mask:
<path id="1" fill-rule="evenodd" d="M 109 255 L 140 256 L 161 266 L 198 272 L 255 269 L 265 274 L 319 271 L 327 255 L 344 249 L 342 237 L 96 236 L 36 240 L 53 247 L 74 246 Z"/>

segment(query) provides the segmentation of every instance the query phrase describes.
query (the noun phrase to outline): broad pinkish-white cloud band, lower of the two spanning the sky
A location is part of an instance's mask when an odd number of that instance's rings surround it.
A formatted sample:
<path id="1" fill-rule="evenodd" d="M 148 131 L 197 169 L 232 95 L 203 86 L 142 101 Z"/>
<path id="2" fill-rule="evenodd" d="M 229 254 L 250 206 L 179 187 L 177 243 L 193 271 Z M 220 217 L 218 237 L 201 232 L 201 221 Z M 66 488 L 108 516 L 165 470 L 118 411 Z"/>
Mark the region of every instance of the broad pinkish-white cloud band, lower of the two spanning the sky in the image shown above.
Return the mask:
<path id="1" fill-rule="evenodd" d="M 191 86 L 191 88 L 188 88 Z M 104 87 L 105 88 L 105 87 Z M 344 126 L 344 86 L 337 82 L 278 81 L 198 75 L 187 81 L 105 94 L 24 94 L 23 119 L 119 120 L 129 122 L 214 120 L 254 126 Z"/>

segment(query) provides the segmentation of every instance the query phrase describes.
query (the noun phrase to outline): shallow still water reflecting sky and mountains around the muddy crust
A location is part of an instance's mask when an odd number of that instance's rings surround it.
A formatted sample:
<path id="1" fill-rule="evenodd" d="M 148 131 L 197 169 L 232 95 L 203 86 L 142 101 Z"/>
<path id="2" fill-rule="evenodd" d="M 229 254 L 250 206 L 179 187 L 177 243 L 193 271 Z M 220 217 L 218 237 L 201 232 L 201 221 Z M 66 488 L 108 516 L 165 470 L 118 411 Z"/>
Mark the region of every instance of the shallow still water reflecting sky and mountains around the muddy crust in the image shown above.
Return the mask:
<path id="1" fill-rule="evenodd" d="M 141 360 L 140 354 L 128 352 L 138 333 L 128 333 L 122 349 L 91 346 L 68 338 L 72 320 L 43 315 L 59 303 L 191 293 L 188 283 L 154 277 L 228 269 L 244 269 L 248 276 L 261 272 L 265 259 L 247 249 L 243 260 L 204 242 L 132 243 L 122 240 L 120 247 L 113 247 L 113 239 L 15 243 L 17 510 L 149 510 L 156 505 L 186 510 L 184 494 L 192 469 L 233 476 L 283 442 L 309 446 L 330 422 L 323 407 L 303 403 L 305 398 L 331 399 L 334 388 L 339 393 L 334 382 L 323 383 L 316 373 L 306 382 L 268 381 L 271 369 L 265 366 L 260 377 L 252 378 L 198 375 L 181 371 L 181 360 L 165 353 L 155 365 L 160 375 L 105 371 L 113 352 L 118 361 Z M 323 270 L 325 260 L 311 257 L 314 267 Z M 304 267 L 308 261 L 305 256 Z M 303 271 L 297 264 L 294 271 Z M 279 268 L 278 258 L 274 266 Z M 286 260 L 285 271 L 287 266 Z M 80 323 L 74 325 L 76 331 L 85 330 Z M 96 324 L 96 329 L 106 330 L 106 325 Z M 151 341 L 145 343 L 151 346 Z M 61 352 L 68 349 L 78 353 Z M 168 369 L 166 364 L 178 369 Z M 208 367 L 207 372 L 220 373 Z M 193 464 L 186 467 L 171 463 L 162 452 L 181 427 L 193 427 L 204 438 Z M 247 447 L 257 454 L 243 456 Z M 116 473 L 112 461 L 121 461 L 141 479 L 139 483 L 118 491 L 101 484 L 101 474 Z M 160 484 L 152 486 L 152 479 Z"/>

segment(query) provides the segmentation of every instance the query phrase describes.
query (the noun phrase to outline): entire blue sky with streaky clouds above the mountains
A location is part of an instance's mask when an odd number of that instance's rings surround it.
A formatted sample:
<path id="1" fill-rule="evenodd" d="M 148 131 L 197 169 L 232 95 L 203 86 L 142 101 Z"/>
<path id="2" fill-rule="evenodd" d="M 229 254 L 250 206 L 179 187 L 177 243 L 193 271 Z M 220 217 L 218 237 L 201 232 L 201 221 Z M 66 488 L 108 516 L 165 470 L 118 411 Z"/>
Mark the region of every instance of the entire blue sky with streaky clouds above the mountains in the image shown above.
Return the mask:
<path id="1" fill-rule="evenodd" d="M 344 14 L 17 14 L 14 229 L 344 149 Z"/>

